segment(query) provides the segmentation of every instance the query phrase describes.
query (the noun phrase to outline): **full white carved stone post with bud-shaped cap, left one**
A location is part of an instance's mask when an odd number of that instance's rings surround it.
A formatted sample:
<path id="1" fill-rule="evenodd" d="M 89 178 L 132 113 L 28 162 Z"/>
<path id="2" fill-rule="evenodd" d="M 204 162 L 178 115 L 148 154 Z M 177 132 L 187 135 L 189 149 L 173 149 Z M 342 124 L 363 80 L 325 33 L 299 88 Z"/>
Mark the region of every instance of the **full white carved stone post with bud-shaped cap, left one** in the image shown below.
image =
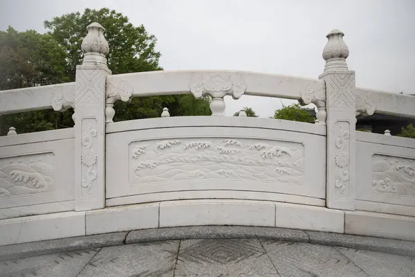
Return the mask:
<path id="1" fill-rule="evenodd" d="M 75 80 L 75 211 L 105 206 L 105 82 L 109 46 L 104 28 L 86 27 L 84 61 Z"/>

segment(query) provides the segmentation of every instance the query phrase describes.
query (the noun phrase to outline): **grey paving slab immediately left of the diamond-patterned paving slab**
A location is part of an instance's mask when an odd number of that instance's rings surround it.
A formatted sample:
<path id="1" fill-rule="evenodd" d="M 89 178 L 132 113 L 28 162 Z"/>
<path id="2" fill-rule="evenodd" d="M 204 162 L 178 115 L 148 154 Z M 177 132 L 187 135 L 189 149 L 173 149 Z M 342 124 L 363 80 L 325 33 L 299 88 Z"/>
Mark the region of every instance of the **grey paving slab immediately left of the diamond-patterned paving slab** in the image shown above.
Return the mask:
<path id="1" fill-rule="evenodd" d="M 79 277 L 173 276 L 179 241 L 105 247 Z"/>

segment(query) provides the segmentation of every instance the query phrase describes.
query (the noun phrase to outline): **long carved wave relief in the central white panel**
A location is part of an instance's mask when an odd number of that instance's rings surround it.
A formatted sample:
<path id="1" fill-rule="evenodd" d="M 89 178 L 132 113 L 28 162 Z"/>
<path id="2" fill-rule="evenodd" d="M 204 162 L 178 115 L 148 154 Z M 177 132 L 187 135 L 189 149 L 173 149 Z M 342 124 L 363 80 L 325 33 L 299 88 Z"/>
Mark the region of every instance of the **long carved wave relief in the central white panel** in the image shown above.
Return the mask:
<path id="1" fill-rule="evenodd" d="M 171 139 L 129 144 L 129 184 L 261 181 L 302 186 L 304 145 L 255 139 Z"/>

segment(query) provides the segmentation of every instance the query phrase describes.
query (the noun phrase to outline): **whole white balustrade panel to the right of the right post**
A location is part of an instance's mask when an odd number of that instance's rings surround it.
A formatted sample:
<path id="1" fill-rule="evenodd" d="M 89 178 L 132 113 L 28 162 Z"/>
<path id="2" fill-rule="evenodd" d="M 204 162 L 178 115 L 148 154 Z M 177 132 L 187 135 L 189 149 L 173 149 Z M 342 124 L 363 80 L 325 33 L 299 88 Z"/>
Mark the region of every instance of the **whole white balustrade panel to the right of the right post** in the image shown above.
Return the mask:
<path id="1" fill-rule="evenodd" d="M 412 139 L 357 133 L 356 199 L 364 206 L 360 209 L 372 211 L 366 208 L 375 204 L 392 204 L 382 206 L 382 211 L 396 213 L 397 208 L 405 210 L 408 206 L 415 206 L 415 148 Z"/>

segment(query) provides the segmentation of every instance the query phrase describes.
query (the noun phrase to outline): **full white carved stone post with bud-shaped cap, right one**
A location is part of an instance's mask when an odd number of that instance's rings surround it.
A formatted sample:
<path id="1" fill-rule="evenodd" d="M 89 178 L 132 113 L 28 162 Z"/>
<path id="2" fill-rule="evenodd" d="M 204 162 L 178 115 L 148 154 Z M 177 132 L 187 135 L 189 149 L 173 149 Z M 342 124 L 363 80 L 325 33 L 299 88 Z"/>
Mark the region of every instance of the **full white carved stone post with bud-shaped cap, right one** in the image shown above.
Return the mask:
<path id="1" fill-rule="evenodd" d="M 323 50 L 319 79 L 326 83 L 326 206 L 354 211 L 356 185 L 355 73 L 347 69 L 349 48 L 344 33 L 332 30 Z"/>

